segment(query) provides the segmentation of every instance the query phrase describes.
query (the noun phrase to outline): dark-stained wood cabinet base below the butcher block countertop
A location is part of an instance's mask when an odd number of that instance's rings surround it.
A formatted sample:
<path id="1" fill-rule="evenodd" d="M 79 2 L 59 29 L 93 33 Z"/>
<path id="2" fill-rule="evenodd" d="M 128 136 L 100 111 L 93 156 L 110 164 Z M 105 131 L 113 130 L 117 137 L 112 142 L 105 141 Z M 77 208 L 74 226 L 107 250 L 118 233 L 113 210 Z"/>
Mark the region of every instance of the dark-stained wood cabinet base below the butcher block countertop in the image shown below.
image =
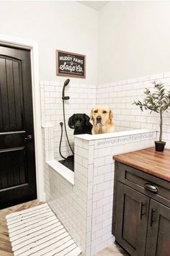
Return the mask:
<path id="1" fill-rule="evenodd" d="M 112 234 L 135 256 L 170 255 L 169 182 L 116 162 Z"/>

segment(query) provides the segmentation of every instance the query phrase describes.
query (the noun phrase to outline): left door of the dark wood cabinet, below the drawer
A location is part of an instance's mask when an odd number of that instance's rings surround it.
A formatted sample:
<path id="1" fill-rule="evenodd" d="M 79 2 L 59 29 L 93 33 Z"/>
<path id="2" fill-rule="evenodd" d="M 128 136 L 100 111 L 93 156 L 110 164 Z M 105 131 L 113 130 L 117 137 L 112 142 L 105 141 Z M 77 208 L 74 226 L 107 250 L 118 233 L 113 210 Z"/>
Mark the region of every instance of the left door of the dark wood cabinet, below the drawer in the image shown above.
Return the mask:
<path id="1" fill-rule="evenodd" d="M 145 255 L 148 208 L 148 197 L 118 182 L 115 237 L 130 255 Z"/>

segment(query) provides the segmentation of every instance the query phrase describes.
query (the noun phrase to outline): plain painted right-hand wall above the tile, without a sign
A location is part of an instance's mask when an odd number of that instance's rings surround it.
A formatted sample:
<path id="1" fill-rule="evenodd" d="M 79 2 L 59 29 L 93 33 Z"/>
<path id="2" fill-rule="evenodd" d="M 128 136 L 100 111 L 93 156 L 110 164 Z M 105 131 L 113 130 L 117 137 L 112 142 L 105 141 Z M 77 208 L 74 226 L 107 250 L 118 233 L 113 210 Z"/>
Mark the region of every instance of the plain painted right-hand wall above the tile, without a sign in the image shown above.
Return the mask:
<path id="1" fill-rule="evenodd" d="M 99 11 L 98 82 L 169 71 L 169 13 L 169 1 L 109 1 Z"/>

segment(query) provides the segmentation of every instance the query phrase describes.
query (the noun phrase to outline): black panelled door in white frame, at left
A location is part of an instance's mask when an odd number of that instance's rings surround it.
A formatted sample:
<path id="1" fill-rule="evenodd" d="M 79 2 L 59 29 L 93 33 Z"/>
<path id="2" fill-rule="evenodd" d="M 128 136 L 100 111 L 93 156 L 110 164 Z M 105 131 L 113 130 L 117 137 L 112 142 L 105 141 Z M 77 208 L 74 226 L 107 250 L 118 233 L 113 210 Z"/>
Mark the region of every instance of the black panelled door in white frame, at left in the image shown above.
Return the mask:
<path id="1" fill-rule="evenodd" d="M 0 209 L 35 198 L 30 51 L 0 46 Z"/>

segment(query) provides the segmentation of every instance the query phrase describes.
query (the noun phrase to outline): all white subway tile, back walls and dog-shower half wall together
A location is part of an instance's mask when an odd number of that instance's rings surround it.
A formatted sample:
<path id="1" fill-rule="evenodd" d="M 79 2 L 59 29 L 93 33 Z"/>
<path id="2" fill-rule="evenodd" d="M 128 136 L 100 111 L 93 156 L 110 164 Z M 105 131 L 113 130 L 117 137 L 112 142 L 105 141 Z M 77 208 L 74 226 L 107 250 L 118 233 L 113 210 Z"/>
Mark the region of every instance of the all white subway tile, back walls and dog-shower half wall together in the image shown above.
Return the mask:
<path id="1" fill-rule="evenodd" d="M 164 82 L 170 90 L 168 72 L 151 77 L 112 82 L 104 85 L 76 85 L 66 87 L 66 124 L 74 113 L 89 114 L 91 108 L 99 104 L 109 105 L 114 113 L 117 131 L 128 129 L 158 129 L 157 114 L 141 112 L 133 105 L 143 99 L 143 90 L 153 88 L 151 82 Z M 43 145 L 46 160 L 61 159 L 58 146 L 61 135 L 60 121 L 63 121 L 61 100 L 63 84 L 60 82 L 40 82 L 42 103 Z M 164 115 L 164 135 L 166 146 L 170 147 L 170 114 Z M 68 126 L 67 126 L 68 127 Z M 68 137 L 73 146 L 73 130 L 69 127 Z M 48 137 L 49 141 L 45 138 Z M 60 174 L 45 164 L 46 200 L 63 225 L 78 244 L 83 254 L 94 255 L 112 244 L 112 195 L 114 184 L 113 154 L 125 153 L 153 145 L 156 132 L 140 135 L 115 137 L 112 140 L 86 141 L 75 138 L 75 185 L 71 185 Z M 71 154 L 64 135 L 63 155 Z"/>

